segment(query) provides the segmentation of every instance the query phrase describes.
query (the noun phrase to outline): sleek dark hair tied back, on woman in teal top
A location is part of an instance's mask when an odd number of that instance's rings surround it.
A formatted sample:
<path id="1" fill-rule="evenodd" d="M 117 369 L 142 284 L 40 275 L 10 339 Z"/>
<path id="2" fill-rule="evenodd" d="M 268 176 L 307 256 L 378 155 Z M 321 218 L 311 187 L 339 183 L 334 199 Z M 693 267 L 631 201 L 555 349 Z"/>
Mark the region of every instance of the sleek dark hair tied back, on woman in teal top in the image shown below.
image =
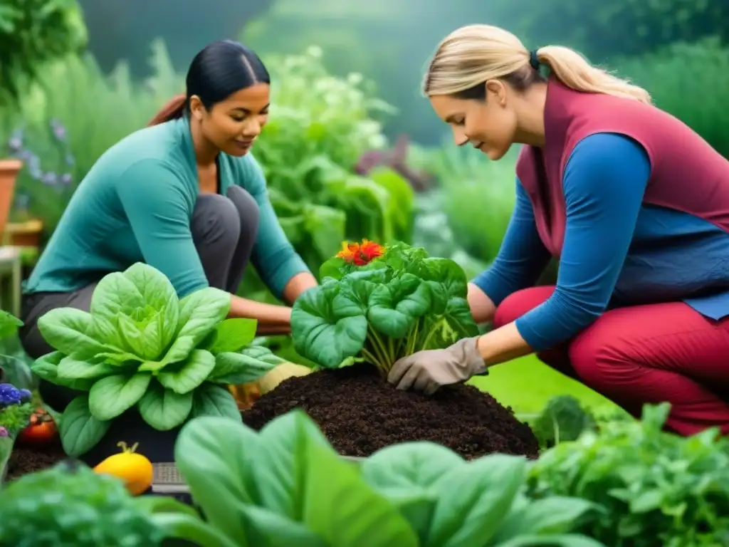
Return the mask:
<path id="1" fill-rule="evenodd" d="M 190 108 L 190 97 L 197 95 L 210 110 L 236 91 L 252 85 L 270 84 L 263 61 L 252 50 L 232 40 L 206 45 L 192 59 L 185 79 L 186 93 L 171 98 L 147 125 L 157 125 L 182 117 Z"/>

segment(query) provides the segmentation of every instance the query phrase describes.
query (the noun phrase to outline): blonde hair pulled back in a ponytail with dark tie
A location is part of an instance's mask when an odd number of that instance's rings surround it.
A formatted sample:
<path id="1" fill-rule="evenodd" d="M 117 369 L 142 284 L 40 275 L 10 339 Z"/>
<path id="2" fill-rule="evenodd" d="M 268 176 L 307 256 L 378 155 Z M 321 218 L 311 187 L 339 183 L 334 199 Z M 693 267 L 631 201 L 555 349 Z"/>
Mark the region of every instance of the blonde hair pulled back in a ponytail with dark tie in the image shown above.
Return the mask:
<path id="1" fill-rule="evenodd" d="M 539 63 L 547 66 L 568 88 L 651 102 L 646 90 L 592 66 L 569 47 L 540 47 L 536 53 Z M 503 28 L 463 26 L 438 44 L 426 71 L 423 93 L 425 96 L 454 95 L 496 78 L 509 78 L 520 85 L 534 81 L 535 78 L 529 77 L 536 74 L 529 57 L 529 50 L 521 40 Z"/>

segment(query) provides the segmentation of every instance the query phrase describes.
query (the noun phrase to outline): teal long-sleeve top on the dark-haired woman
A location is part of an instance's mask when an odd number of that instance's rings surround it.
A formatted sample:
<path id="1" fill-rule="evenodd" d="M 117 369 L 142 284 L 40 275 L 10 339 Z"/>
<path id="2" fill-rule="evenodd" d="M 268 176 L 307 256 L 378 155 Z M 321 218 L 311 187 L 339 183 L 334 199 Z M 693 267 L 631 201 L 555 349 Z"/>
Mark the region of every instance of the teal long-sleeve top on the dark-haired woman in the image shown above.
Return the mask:
<path id="1" fill-rule="evenodd" d="M 219 193 L 239 185 L 258 203 L 252 263 L 281 298 L 289 280 L 308 268 L 278 223 L 262 169 L 250 153 L 221 153 L 218 164 Z M 79 184 L 24 291 L 78 290 L 136 262 L 165 274 L 180 298 L 207 287 L 190 230 L 199 191 L 186 118 L 132 133 Z"/>

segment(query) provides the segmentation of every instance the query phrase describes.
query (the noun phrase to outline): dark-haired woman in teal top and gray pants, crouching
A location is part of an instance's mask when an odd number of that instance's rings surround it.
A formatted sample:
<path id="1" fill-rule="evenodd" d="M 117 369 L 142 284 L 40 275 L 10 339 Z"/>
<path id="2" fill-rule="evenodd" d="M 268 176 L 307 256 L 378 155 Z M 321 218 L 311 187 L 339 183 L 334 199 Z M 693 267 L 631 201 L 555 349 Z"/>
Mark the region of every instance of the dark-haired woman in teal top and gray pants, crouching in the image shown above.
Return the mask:
<path id="1" fill-rule="evenodd" d="M 260 333 L 286 332 L 291 309 L 235 295 L 249 260 L 286 303 L 316 285 L 249 154 L 268 117 L 262 61 L 237 42 L 214 42 L 195 55 L 186 84 L 148 128 L 107 150 L 71 198 L 24 287 L 20 338 L 31 357 L 52 352 L 39 317 L 88 311 L 101 277 L 136 262 L 162 271 L 180 298 L 208 286 L 230 292 L 230 317 L 257 319 Z M 75 395 L 47 383 L 41 392 L 59 411 Z"/>

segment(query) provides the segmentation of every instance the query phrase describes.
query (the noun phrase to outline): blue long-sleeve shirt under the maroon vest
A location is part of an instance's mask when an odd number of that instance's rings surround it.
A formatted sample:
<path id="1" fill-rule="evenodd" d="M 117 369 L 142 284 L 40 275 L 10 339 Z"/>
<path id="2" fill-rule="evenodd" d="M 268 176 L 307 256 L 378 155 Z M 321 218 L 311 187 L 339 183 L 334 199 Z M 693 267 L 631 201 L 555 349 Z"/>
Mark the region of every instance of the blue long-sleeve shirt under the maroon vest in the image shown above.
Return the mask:
<path id="1" fill-rule="evenodd" d="M 582 139 L 564 170 L 566 229 L 553 295 L 516 320 L 535 351 L 572 338 L 609 306 L 685 300 L 706 317 L 729 310 L 729 235 L 692 214 L 643 203 L 650 161 L 615 133 Z M 550 254 L 517 180 L 499 255 L 474 283 L 498 305 L 529 287 Z M 690 191 L 687 188 L 687 191 Z"/>

